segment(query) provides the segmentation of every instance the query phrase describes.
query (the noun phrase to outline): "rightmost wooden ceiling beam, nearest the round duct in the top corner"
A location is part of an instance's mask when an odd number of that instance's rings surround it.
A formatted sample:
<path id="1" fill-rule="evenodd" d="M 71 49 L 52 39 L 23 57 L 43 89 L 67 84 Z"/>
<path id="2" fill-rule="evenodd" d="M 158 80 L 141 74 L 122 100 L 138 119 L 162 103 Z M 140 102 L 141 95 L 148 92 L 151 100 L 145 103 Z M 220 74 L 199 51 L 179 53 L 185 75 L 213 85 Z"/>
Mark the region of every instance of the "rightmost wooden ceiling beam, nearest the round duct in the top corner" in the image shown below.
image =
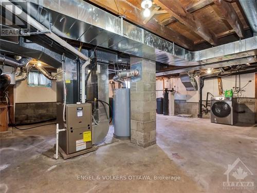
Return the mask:
<path id="1" fill-rule="evenodd" d="M 237 36 L 244 38 L 244 26 L 240 21 L 238 15 L 236 14 L 231 3 L 223 0 L 214 0 L 215 5 L 221 10 L 225 19 L 228 21 L 229 25 L 234 29 Z"/>

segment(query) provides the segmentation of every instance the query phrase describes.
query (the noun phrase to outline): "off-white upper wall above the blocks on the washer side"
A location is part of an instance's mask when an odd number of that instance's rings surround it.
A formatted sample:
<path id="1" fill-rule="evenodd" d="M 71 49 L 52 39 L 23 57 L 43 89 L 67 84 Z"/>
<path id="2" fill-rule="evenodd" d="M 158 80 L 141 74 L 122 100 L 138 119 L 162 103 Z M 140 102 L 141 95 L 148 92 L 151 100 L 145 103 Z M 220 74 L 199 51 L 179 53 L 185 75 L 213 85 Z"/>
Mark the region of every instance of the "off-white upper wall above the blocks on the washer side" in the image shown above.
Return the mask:
<path id="1" fill-rule="evenodd" d="M 168 81 L 167 81 L 168 80 Z M 187 102 L 198 102 L 199 92 L 198 91 L 187 91 L 186 87 L 180 81 L 180 78 L 171 78 L 170 80 L 164 80 L 164 87 L 174 87 L 176 90 L 175 100 L 187 100 Z M 248 81 L 251 82 L 244 88 L 241 97 L 255 97 L 255 73 L 241 75 L 241 87 L 246 85 Z M 237 86 L 238 86 L 238 75 L 237 75 Z M 197 79 L 198 83 L 198 79 Z M 235 86 L 235 76 L 228 76 L 222 78 L 223 91 L 232 89 Z M 199 83 L 198 83 L 199 87 Z M 163 81 L 156 80 L 156 90 L 163 90 Z M 206 99 L 207 92 L 212 93 L 214 96 L 218 96 L 218 81 L 217 79 L 205 80 L 205 86 L 203 89 L 203 100 Z M 156 97 L 163 97 L 162 91 L 156 91 Z"/>

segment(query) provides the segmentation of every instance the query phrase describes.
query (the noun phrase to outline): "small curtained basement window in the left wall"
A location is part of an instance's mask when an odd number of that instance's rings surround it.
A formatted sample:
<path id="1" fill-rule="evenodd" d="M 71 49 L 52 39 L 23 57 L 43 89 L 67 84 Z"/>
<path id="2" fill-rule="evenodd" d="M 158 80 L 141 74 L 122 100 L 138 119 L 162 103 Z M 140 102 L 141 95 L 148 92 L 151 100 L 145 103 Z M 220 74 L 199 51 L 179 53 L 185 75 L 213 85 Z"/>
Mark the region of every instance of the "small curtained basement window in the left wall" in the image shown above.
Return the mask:
<path id="1" fill-rule="evenodd" d="M 51 87 L 52 82 L 39 71 L 30 71 L 27 83 L 29 86 Z"/>

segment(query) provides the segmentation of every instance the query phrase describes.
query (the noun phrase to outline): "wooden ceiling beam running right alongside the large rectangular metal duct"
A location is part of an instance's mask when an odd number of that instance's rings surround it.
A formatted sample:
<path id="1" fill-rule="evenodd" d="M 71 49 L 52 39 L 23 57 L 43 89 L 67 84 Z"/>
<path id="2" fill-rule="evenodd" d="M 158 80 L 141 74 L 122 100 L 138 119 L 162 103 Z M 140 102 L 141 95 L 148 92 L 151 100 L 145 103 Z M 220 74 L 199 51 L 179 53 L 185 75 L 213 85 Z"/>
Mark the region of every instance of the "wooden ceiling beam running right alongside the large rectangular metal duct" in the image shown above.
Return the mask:
<path id="1" fill-rule="evenodd" d="M 119 1 L 119 10 L 117 9 L 115 2 L 111 0 L 89 0 L 89 2 L 92 2 L 112 13 L 124 14 L 127 20 L 156 33 L 158 36 L 174 42 L 189 50 L 194 49 L 193 41 L 186 38 L 179 32 L 176 32 L 166 26 L 162 26 L 154 20 L 151 20 L 147 24 L 143 24 L 144 17 L 142 15 L 141 9 L 127 1 Z"/>

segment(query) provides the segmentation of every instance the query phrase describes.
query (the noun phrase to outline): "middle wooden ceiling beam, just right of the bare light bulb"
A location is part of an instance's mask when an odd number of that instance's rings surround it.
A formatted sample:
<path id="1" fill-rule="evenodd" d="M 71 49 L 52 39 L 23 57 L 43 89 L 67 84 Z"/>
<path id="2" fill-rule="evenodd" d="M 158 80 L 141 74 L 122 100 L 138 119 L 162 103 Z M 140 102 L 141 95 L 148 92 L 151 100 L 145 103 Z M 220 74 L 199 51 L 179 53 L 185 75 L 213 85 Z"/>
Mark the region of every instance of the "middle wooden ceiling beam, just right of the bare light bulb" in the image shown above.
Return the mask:
<path id="1" fill-rule="evenodd" d="M 168 11 L 180 23 L 186 25 L 204 40 L 212 45 L 216 45 L 216 37 L 208 28 L 206 28 L 193 14 L 186 11 L 178 0 L 155 0 L 155 3 Z"/>

